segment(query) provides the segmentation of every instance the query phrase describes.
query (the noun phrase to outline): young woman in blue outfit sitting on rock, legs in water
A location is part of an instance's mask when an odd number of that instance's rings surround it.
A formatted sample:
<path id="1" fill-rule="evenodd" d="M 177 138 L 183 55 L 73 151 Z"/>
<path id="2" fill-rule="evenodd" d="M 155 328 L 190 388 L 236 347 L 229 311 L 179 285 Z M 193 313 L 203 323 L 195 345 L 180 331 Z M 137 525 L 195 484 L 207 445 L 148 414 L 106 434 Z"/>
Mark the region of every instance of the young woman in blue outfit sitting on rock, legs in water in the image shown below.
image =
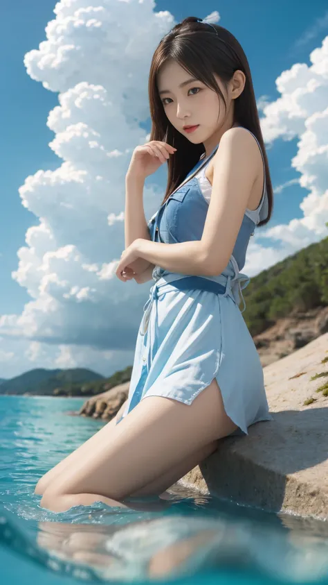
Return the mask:
<path id="1" fill-rule="evenodd" d="M 38 482 L 42 507 L 53 511 L 162 495 L 219 439 L 271 419 L 239 309 L 248 241 L 273 205 L 239 42 L 226 28 L 186 18 L 154 53 L 149 102 L 151 139 L 136 147 L 127 172 L 126 249 L 116 271 L 123 282 L 155 280 L 129 396 L 115 419 Z M 166 161 L 166 193 L 147 224 L 145 178 Z"/>

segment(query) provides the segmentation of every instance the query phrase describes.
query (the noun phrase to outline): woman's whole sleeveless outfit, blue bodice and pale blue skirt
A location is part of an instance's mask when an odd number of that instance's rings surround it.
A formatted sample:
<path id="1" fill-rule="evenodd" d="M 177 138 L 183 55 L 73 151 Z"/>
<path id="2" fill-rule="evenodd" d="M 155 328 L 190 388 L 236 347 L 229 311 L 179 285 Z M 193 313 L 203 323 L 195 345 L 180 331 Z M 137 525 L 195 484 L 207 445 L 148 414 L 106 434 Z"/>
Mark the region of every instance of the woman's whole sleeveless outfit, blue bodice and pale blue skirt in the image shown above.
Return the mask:
<path id="1" fill-rule="evenodd" d="M 201 239 L 208 201 L 195 175 L 199 176 L 200 167 L 205 173 L 218 147 L 197 162 L 149 220 L 152 241 L 172 244 Z M 260 145 L 259 149 L 262 154 Z M 250 279 L 241 272 L 250 236 L 267 214 L 264 172 L 259 207 L 246 210 L 222 273 L 185 275 L 155 266 L 155 282 L 136 339 L 127 405 L 117 424 L 147 396 L 174 398 L 190 405 L 213 378 L 221 389 L 226 414 L 239 427 L 237 434 L 248 434 L 249 425 L 271 420 L 262 364 L 242 316 L 246 308 L 242 289 Z"/>

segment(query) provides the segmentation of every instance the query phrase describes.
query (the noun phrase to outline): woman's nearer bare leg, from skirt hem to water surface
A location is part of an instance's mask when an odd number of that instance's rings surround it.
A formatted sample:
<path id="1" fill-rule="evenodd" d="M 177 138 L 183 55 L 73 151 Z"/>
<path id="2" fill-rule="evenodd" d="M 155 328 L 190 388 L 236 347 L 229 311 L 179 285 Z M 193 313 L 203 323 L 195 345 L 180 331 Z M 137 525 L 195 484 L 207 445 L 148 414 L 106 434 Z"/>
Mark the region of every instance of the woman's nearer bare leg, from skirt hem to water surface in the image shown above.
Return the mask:
<path id="1" fill-rule="evenodd" d="M 110 439 L 106 428 L 100 431 L 104 431 L 101 444 L 46 489 L 43 507 L 64 511 L 95 501 L 122 501 L 140 493 L 173 467 L 180 469 L 177 475 L 181 477 L 188 471 L 187 458 L 232 433 L 237 426 L 224 410 L 214 379 L 191 405 L 148 396 L 119 425 L 111 427 Z"/>

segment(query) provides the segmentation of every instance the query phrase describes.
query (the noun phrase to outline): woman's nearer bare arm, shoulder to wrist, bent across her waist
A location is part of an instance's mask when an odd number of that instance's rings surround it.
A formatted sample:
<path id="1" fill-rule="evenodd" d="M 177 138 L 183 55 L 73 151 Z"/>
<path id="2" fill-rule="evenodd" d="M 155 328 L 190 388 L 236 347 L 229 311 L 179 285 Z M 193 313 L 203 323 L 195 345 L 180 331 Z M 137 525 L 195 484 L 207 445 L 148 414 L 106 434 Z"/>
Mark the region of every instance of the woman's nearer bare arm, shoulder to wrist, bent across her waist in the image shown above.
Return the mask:
<path id="1" fill-rule="evenodd" d="M 257 157 L 257 142 L 246 128 L 226 130 L 212 158 L 212 193 L 201 240 L 165 244 L 141 238 L 134 245 L 138 259 L 181 274 L 221 274 L 233 254 L 257 177 Z"/>

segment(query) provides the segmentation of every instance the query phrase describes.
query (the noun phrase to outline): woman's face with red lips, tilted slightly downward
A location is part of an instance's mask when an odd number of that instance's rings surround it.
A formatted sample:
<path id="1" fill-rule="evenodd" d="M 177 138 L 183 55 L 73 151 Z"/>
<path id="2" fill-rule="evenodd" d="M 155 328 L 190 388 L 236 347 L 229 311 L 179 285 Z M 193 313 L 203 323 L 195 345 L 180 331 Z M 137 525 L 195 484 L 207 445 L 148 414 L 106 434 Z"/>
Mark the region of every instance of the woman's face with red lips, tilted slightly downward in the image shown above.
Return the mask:
<path id="1" fill-rule="evenodd" d="M 206 139 L 221 128 L 226 117 L 226 108 L 217 92 L 201 81 L 191 80 L 190 83 L 185 83 L 190 78 L 192 76 L 188 71 L 176 61 L 170 60 L 158 72 L 158 93 L 172 126 L 190 142 L 199 144 L 206 142 Z M 228 99 L 226 88 L 216 74 L 215 79 Z M 183 83 L 185 85 L 181 85 Z M 183 130 L 184 125 L 197 124 L 198 128 L 192 133 Z"/>

